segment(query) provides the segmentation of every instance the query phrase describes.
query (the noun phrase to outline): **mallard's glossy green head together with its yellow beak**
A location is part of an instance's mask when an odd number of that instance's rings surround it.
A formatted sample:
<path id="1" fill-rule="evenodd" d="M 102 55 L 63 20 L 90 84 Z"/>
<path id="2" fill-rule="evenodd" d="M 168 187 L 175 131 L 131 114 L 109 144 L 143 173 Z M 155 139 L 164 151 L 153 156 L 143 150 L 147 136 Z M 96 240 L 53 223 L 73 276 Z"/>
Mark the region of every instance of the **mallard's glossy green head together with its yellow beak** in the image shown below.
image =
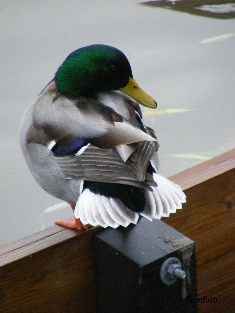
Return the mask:
<path id="1" fill-rule="evenodd" d="M 120 90 L 146 107 L 157 107 L 133 79 L 124 53 L 109 45 L 88 45 L 73 51 L 57 69 L 55 84 L 60 92 L 75 96 Z"/>

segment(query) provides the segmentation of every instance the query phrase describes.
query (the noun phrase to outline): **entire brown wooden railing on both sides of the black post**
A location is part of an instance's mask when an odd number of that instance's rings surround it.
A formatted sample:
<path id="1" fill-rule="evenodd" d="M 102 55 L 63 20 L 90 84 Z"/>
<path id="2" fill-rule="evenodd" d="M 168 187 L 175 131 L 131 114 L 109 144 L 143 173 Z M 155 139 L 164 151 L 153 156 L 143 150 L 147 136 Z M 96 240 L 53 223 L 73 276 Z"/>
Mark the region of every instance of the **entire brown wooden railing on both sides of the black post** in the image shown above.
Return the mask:
<path id="1" fill-rule="evenodd" d="M 235 149 L 171 177 L 187 195 L 165 223 L 196 244 L 201 313 L 235 308 Z M 95 311 L 92 234 L 52 226 L 0 247 L 1 313 Z M 203 301 L 203 300 L 202 300 Z"/>

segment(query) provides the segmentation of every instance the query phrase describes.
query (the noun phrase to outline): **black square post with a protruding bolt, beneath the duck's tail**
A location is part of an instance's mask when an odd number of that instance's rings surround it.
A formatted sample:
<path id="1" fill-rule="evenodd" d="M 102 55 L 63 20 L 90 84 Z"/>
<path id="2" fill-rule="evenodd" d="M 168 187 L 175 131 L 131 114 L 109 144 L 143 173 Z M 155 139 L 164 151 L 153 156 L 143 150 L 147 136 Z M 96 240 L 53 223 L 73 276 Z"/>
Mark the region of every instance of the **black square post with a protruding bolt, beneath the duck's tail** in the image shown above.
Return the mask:
<path id="1" fill-rule="evenodd" d="M 93 243 L 98 313 L 198 312 L 197 303 L 187 301 L 197 297 L 195 246 L 188 237 L 162 221 L 141 219 L 103 229 Z"/>

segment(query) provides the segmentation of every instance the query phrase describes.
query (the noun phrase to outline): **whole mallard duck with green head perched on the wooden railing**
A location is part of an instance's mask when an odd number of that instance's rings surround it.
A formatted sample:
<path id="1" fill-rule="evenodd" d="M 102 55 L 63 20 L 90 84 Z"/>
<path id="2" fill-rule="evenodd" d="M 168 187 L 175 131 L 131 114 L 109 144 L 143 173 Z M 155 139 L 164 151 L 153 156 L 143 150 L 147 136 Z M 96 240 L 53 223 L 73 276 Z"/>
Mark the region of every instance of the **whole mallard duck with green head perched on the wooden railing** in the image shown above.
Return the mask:
<path id="1" fill-rule="evenodd" d="M 140 105 L 155 100 L 133 78 L 126 56 L 108 45 L 79 48 L 24 112 L 20 142 L 34 179 L 71 204 L 71 228 L 137 224 L 168 217 L 185 194 L 158 174 L 158 142 Z"/>

